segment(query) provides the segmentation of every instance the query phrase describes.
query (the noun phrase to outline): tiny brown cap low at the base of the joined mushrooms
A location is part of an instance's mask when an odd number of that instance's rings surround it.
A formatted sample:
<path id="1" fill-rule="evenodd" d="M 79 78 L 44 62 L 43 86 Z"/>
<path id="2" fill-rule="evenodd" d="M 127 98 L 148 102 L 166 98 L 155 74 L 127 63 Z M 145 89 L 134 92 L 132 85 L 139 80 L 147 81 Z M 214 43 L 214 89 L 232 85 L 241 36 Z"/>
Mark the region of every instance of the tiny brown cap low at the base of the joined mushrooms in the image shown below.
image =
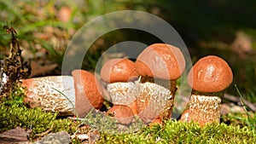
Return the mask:
<path id="1" fill-rule="evenodd" d="M 120 124 L 131 124 L 134 113 L 130 107 L 125 105 L 113 105 L 108 112 L 108 115 L 113 115 Z"/>

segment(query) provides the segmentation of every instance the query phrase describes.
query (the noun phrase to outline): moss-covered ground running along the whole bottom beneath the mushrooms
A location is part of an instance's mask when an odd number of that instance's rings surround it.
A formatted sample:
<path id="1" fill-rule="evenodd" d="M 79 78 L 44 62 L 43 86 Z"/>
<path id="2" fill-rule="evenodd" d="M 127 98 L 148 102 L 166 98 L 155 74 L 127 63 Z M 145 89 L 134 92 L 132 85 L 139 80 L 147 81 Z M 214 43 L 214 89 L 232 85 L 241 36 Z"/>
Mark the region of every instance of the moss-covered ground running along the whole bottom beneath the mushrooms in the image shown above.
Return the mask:
<path id="1" fill-rule="evenodd" d="M 207 124 L 203 128 L 195 123 L 183 123 L 176 120 L 165 121 L 163 125 L 139 127 L 139 130 L 122 134 L 113 127 L 113 119 L 102 118 L 91 112 L 84 120 L 75 121 L 58 118 L 57 113 L 43 112 L 39 108 L 29 108 L 23 103 L 23 89 L 15 89 L 9 97 L 0 103 L 0 132 L 19 126 L 32 130 L 31 141 L 40 138 L 42 133 L 66 130 L 73 135 L 80 124 L 90 125 L 90 130 L 97 130 L 101 135 L 98 143 L 256 143 L 256 131 L 246 123 Z M 230 118 L 233 116 L 230 116 Z M 237 116 L 238 117 L 238 116 Z M 241 120 L 241 119 L 240 119 Z M 255 120 L 255 115 L 254 115 Z M 239 122 L 239 119 L 236 119 Z M 140 123 L 137 123 L 140 124 Z M 254 125 L 255 126 L 255 125 Z M 136 129 L 136 126 L 131 126 Z M 88 132 L 88 131 L 86 131 Z M 73 140 L 73 143 L 81 141 Z"/>

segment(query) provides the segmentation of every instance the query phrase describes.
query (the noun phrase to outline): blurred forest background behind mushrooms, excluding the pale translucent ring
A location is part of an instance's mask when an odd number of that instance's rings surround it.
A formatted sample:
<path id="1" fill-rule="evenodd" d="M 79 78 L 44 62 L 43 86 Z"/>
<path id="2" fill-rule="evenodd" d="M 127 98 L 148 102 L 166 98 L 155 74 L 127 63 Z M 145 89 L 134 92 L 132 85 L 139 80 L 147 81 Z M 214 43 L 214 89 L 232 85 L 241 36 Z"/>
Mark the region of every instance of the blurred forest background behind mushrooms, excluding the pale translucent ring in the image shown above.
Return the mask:
<path id="1" fill-rule="evenodd" d="M 1 26 L 9 22 L 18 32 L 23 56 L 32 61 L 32 77 L 61 73 L 62 55 L 81 26 L 117 10 L 140 10 L 170 23 L 186 43 L 193 63 L 206 55 L 227 60 L 234 83 L 227 90 L 237 95 L 237 84 L 247 100 L 256 102 L 256 1 L 168 0 L 0 0 Z M 10 35 L 0 31 L 0 59 L 9 55 Z M 137 30 L 109 32 L 91 46 L 83 69 L 93 71 L 105 49 L 123 41 L 158 43 Z M 39 72 L 37 71 L 39 69 Z"/>

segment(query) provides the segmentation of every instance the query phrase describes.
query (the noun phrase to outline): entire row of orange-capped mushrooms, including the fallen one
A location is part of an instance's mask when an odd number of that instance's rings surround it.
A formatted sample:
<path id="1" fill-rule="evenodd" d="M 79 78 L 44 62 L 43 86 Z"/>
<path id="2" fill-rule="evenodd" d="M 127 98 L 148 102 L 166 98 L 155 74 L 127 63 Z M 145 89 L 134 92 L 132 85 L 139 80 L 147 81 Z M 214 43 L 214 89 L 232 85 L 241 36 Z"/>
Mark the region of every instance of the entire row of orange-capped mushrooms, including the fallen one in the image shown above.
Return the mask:
<path id="1" fill-rule="evenodd" d="M 119 124 L 131 124 L 135 116 L 146 124 L 160 123 L 172 117 L 176 81 L 185 66 L 180 49 L 154 43 L 144 49 L 135 62 L 125 58 L 106 61 L 101 69 L 105 87 L 84 70 L 74 70 L 72 76 L 23 79 L 22 86 L 27 88 L 26 101 L 45 111 L 63 115 L 77 112 L 84 118 L 91 109 L 101 109 L 105 90 L 108 101 L 113 104 L 106 113 Z M 218 56 L 198 60 L 188 75 L 188 84 L 193 90 L 181 120 L 201 125 L 219 122 L 224 89 L 232 79 L 230 66 Z"/>

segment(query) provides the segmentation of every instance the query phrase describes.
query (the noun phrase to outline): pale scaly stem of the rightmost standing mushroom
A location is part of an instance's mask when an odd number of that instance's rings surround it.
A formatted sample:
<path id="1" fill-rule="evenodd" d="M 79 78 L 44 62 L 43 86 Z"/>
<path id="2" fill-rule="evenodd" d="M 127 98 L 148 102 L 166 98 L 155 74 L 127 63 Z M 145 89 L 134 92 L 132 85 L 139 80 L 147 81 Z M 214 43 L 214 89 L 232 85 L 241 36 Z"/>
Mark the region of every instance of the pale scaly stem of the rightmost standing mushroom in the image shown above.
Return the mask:
<path id="1" fill-rule="evenodd" d="M 191 95 L 189 119 L 201 125 L 219 123 L 221 98 L 212 95 Z"/>

